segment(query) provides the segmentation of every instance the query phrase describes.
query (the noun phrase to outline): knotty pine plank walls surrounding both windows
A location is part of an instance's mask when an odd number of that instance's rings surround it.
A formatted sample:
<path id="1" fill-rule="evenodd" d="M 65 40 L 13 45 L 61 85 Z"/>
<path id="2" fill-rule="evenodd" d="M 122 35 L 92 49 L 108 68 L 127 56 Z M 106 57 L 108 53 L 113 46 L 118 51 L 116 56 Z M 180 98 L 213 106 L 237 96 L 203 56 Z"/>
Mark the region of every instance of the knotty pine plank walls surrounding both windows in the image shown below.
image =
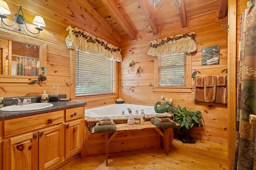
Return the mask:
<path id="1" fill-rule="evenodd" d="M 18 10 L 18 6 L 22 6 L 26 14 L 30 17 L 40 14 L 45 19 L 46 27 L 42 31 L 38 39 L 47 41 L 47 82 L 42 84 L 29 85 L 26 83 L 2 83 L 0 82 L 0 96 L 12 97 L 12 96 L 26 96 L 26 95 L 40 95 L 43 90 L 51 93 L 52 85 L 60 85 L 60 94 L 67 94 L 67 97 L 71 96 L 71 85 L 74 82 L 70 82 L 74 76 L 71 69 L 70 50 L 65 45 L 65 38 L 68 34 L 65 29 L 68 25 L 73 27 L 81 27 L 80 23 L 75 20 L 79 18 L 72 18 L 70 15 L 56 16 L 54 11 L 47 7 L 46 1 L 31 1 L 29 4 L 26 1 L 18 0 L 6 0 L 9 8 L 12 12 Z M 57 1 L 56 1 L 57 2 Z M 240 9 L 244 9 L 247 1 L 238 0 L 238 14 Z M 40 4 L 42 3 L 42 4 Z M 30 6 L 34 6 L 31 9 Z M 44 11 L 36 10 L 40 6 L 45 6 Z M 72 7 L 73 11 L 80 10 L 78 6 Z M 30 9 L 30 10 L 26 10 Z M 58 10 L 65 10 L 64 7 L 58 8 Z M 243 11 L 243 10 L 242 10 Z M 68 13 L 68 11 L 67 11 Z M 51 18 L 51 19 L 50 19 Z M 239 18 L 239 17 L 238 17 Z M 26 18 L 29 20 L 29 18 Z M 76 23 L 77 22 L 77 23 Z M 88 21 L 92 28 L 93 23 Z M 209 11 L 204 15 L 189 17 L 188 16 L 188 28 L 181 29 L 179 23 L 172 23 L 171 25 L 163 25 L 160 27 L 160 35 L 152 36 L 152 33 L 139 32 L 138 41 L 131 40 L 128 37 L 123 40 L 120 48 L 122 49 L 123 62 L 118 64 L 119 81 L 118 90 L 119 94 L 103 95 L 103 96 L 90 96 L 86 98 L 76 98 L 72 100 L 87 102 L 87 108 L 102 106 L 105 104 L 114 103 L 116 98 L 123 98 L 126 103 L 154 105 L 154 103 L 160 100 L 160 96 L 164 95 L 167 98 L 173 98 L 174 105 L 186 106 L 188 109 L 198 109 L 202 111 L 205 125 L 202 128 L 195 128 L 193 131 L 193 137 L 202 140 L 208 140 L 216 143 L 227 145 L 227 129 L 228 129 L 228 113 L 227 106 L 224 104 L 194 102 L 194 92 L 191 93 L 174 93 L 174 92 L 153 92 L 154 86 L 154 58 L 149 56 L 148 49 L 151 40 L 164 38 L 168 36 L 175 36 L 186 32 L 194 31 L 196 33 L 197 51 L 192 53 L 192 72 L 194 69 L 201 72 L 201 76 L 206 75 L 223 75 L 221 71 L 227 68 L 227 33 L 224 31 L 226 27 L 221 25 L 227 24 L 227 18 L 218 20 L 218 11 Z M 238 23 L 239 24 L 239 23 Z M 87 25 L 86 25 L 87 26 Z M 98 26 L 98 25 L 96 25 Z M 85 27 L 86 28 L 86 27 Z M 239 28 L 239 27 L 238 27 Z M 100 31 L 99 31 L 100 32 Z M 100 35 L 99 32 L 95 33 L 95 36 Z M 239 33 L 239 30 L 238 30 Z M 103 38 L 102 35 L 101 38 Z M 106 35 L 106 37 L 109 37 Z M 111 38 L 106 38 L 108 41 L 114 42 Z M 201 65 L 201 51 L 202 47 L 208 47 L 212 45 L 220 45 L 220 64 L 202 66 Z M 134 60 L 134 70 L 130 71 L 128 64 Z M 141 76 L 136 76 L 136 68 L 141 66 Z M 191 79 L 192 86 L 193 80 Z"/>

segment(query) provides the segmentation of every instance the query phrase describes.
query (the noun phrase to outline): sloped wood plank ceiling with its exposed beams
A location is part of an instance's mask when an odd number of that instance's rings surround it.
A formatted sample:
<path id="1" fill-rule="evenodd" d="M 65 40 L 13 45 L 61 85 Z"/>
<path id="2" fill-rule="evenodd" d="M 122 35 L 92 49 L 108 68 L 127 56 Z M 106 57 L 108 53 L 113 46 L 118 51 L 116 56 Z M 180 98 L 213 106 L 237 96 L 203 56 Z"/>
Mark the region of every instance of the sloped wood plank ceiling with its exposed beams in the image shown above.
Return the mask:
<path id="1" fill-rule="evenodd" d="M 152 32 L 159 35 L 159 27 L 179 22 L 181 28 L 187 27 L 187 18 L 211 10 L 218 10 L 218 19 L 225 18 L 227 0 L 180 0 L 180 7 L 175 5 L 177 0 L 162 0 L 160 9 L 154 9 L 150 0 L 90 0 L 81 2 L 75 0 L 88 12 L 95 21 L 105 23 L 105 29 L 113 34 L 118 43 L 122 38 L 137 39 L 138 31 Z M 159 1 L 159 0 L 158 0 Z M 178 5 L 178 4 L 177 4 Z M 120 41 L 119 41 L 120 39 Z"/>

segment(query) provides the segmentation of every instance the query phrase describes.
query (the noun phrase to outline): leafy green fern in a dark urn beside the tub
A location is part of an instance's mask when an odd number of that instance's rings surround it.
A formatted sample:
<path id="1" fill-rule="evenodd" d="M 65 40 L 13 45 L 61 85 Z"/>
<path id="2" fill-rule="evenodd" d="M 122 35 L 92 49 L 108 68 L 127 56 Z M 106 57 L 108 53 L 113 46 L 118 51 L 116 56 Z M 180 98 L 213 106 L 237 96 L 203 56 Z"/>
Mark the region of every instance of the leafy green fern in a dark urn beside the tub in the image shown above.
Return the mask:
<path id="1" fill-rule="evenodd" d="M 201 111 L 187 110 L 186 107 L 181 108 L 178 105 L 176 111 L 174 111 L 173 121 L 180 124 L 178 130 L 182 130 L 184 133 L 184 135 L 179 136 L 182 143 L 196 143 L 194 138 L 190 136 L 190 133 L 194 125 L 201 127 L 202 121 L 204 122 Z"/>

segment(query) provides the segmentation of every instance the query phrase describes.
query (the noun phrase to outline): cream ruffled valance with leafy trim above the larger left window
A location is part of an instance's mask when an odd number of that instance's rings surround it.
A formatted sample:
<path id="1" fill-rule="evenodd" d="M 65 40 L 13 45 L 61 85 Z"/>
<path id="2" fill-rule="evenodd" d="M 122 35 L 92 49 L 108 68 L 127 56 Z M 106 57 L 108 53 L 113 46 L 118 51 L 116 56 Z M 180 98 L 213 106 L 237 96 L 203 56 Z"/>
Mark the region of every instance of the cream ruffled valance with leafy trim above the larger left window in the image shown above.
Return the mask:
<path id="1" fill-rule="evenodd" d="M 96 38 L 94 35 L 82 31 L 81 29 L 73 29 L 71 26 L 66 28 L 69 31 L 66 37 L 66 45 L 70 49 L 79 49 L 90 54 L 105 57 L 112 61 L 122 61 L 121 49 L 104 41 L 103 39 Z"/>

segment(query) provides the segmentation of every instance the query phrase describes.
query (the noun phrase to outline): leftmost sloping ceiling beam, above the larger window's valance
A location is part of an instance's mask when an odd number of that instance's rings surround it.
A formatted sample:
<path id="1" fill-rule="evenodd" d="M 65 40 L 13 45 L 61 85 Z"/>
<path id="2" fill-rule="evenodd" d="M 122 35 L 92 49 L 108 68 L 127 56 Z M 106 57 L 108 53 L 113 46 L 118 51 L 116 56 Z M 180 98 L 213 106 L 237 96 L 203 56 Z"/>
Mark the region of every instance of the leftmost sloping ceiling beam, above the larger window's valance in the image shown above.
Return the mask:
<path id="1" fill-rule="evenodd" d="M 112 35 L 118 43 L 122 43 L 122 38 L 117 33 L 117 31 L 108 23 L 108 21 L 94 8 L 92 3 L 88 0 L 74 0 L 83 10 L 88 13 L 92 18 L 102 25 L 110 35 Z"/>

